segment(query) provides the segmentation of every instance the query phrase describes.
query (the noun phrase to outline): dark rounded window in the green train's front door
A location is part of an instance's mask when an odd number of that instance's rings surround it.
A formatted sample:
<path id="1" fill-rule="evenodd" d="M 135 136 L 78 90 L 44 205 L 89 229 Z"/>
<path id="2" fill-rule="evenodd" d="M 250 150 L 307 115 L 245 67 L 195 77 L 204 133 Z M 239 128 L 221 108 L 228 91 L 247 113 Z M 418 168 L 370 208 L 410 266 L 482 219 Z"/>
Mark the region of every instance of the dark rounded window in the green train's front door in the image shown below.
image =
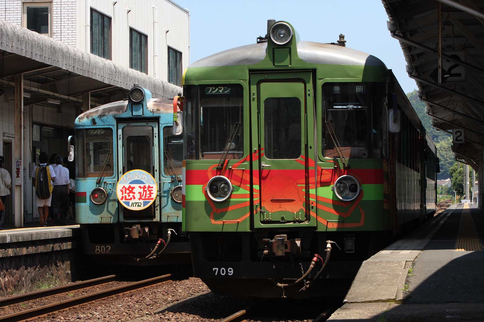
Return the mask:
<path id="1" fill-rule="evenodd" d="M 301 100 L 264 100 L 264 154 L 268 159 L 298 159 L 301 156 Z"/>

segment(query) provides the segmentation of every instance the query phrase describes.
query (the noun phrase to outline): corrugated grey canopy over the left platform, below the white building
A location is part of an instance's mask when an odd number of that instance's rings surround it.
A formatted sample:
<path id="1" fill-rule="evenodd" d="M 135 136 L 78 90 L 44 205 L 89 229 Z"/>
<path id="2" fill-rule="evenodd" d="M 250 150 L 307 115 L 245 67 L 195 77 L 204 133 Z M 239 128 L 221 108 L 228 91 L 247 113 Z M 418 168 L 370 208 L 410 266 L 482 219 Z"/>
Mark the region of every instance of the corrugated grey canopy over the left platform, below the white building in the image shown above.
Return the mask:
<path id="1" fill-rule="evenodd" d="M 18 74 L 27 93 L 24 105 L 46 98 L 79 104 L 89 93 L 91 105 L 98 106 L 124 98 L 134 83 L 155 98 L 181 92 L 181 87 L 0 20 L 0 87 L 14 87 Z"/>

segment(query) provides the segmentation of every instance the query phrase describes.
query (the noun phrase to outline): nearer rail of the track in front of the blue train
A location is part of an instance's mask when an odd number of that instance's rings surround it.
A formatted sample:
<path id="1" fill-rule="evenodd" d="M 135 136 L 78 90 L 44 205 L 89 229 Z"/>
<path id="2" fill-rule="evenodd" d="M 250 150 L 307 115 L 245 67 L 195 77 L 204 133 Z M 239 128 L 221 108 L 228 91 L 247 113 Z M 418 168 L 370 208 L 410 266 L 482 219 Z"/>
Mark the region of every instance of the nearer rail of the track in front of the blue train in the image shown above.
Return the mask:
<path id="1" fill-rule="evenodd" d="M 158 284 L 166 280 L 170 280 L 174 277 L 174 274 L 166 274 L 158 277 L 153 277 L 147 280 L 140 280 L 137 282 L 129 283 L 126 285 L 112 287 L 106 290 L 97 291 L 91 294 L 85 294 L 76 296 L 66 300 L 62 300 L 56 303 L 46 304 L 36 308 L 29 308 L 20 312 L 10 313 L 0 316 L 1 322 L 20 322 L 30 320 L 32 318 L 38 318 L 49 313 L 53 313 L 65 308 L 72 308 L 80 304 L 92 302 L 101 298 L 105 298 L 111 295 L 121 294 L 129 291 L 133 291 L 153 284 Z"/>

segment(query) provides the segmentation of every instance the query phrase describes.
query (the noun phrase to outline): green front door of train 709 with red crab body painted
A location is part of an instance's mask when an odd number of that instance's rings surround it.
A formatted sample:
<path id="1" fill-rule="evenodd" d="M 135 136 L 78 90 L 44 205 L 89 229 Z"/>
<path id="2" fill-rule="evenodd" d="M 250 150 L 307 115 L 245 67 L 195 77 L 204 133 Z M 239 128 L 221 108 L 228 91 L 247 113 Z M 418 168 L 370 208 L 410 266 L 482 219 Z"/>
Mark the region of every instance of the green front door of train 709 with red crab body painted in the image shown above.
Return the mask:
<path id="1" fill-rule="evenodd" d="M 315 227 L 311 72 L 255 73 L 250 82 L 251 108 L 257 113 L 252 132 L 258 153 L 253 158 L 254 227 Z"/>

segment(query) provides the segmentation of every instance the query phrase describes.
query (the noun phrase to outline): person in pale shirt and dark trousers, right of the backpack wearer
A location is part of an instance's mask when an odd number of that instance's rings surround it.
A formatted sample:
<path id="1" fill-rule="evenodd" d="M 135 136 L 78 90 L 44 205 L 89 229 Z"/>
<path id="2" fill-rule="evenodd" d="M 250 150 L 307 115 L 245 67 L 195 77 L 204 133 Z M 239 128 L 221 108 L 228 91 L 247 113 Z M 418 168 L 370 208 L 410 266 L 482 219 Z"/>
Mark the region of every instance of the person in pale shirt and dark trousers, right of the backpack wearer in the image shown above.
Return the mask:
<path id="1" fill-rule="evenodd" d="M 56 155 L 56 166 L 54 172 L 56 174 L 56 181 L 54 182 L 54 190 L 52 191 L 52 208 L 54 213 L 54 221 L 61 223 L 61 218 L 65 217 L 66 211 L 69 207 L 69 169 L 62 167 L 62 157 Z"/>

